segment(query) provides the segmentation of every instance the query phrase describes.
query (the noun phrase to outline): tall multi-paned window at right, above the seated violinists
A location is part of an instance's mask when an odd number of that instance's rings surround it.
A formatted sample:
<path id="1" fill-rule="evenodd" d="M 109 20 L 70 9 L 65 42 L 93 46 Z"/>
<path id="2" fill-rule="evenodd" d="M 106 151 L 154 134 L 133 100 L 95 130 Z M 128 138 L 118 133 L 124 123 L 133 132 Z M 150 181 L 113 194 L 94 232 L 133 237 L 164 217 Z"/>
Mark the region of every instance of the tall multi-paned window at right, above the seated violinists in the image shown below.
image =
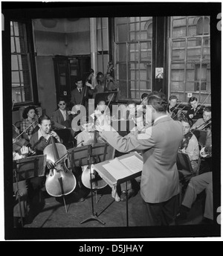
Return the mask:
<path id="1" fill-rule="evenodd" d="M 208 16 L 171 18 L 169 89 L 180 101 L 192 94 L 203 102 L 210 94 L 209 22 Z"/>

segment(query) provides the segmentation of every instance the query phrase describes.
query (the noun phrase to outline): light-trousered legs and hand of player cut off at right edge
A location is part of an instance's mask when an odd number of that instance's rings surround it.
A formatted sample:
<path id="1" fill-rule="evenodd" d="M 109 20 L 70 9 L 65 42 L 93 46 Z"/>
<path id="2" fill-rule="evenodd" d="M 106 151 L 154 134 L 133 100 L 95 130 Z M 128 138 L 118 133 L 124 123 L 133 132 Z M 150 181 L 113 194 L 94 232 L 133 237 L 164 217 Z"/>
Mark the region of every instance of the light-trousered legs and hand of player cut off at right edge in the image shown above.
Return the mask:
<path id="1" fill-rule="evenodd" d="M 211 149 L 207 149 L 207 153 L 203 155 L 204 158 L 210 158 L 208 152 L 211 152 Z M 201 173 L 198 176 L 194 176 L 190 179 L 190 182 L 187 186 L 187 191 L 184 194 L 184 199 L 178 213 L 177 221 L 178 224 L 181 220 L 186 220 L 190 209 L 193 207 L 193 202 L 197 198 L 198 194 L 202 191 L 206 191 L 205 206 L 204 206 L 204 218 L 202 223 L 213 223 L 213 176 L 210 166 L 210 170 Z"/>

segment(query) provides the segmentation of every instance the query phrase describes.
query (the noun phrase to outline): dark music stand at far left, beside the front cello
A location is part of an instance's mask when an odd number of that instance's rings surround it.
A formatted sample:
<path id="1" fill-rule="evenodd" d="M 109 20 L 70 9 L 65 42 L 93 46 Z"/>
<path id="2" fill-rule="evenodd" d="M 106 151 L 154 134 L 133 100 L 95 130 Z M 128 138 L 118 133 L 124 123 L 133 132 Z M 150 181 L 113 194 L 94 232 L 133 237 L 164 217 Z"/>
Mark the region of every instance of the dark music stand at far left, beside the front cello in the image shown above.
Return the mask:
<path id="1" fill-rule="evenodd" d="M 46 165 L 46 156 L 30 156 L 25 159 L 18 159 L 14 162 L 14 170 L 13 170 L 13 182 L 16 182 L 17 190 L 18 190 L 18 199 L 19 199 L 19 214 L 21 218 L 21 224 L 23 228 L 23 220 L 22 220 L 22 208 L 19 194 L 19 181 L 35 178 L 39 176 L 45 176 L 45 165 Z"/>

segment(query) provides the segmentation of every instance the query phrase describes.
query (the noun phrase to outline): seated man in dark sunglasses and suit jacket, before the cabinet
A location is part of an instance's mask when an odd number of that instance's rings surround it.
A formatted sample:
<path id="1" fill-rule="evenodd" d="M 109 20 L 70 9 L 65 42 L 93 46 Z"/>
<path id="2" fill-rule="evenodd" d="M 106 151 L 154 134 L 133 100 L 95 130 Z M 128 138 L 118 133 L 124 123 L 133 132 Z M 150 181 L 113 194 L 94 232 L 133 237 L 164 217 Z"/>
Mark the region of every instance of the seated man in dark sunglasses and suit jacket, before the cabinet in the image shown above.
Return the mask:
<path id="1" fill-rule="evenodd" d="M 63 143 L 74 140 L 74 130 L 71 128 L 73 116 L 66 109 L 67 103 L 65 99 L 60 98 L 58 101 L 58 109 L 51 116 L 52 128 L 56 131 Z"/>

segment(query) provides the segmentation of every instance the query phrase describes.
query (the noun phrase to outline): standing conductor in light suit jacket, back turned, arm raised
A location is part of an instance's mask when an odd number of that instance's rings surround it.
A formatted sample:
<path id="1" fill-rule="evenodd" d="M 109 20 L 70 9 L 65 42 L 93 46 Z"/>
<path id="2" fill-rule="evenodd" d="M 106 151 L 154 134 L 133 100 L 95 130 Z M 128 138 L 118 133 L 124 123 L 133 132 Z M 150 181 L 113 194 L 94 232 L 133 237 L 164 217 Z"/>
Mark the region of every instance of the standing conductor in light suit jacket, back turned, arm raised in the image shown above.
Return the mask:
<path id="1" fill-rule="evenodd" d="M 140 194 L 143 198 L 144 225 L 171 225 L 179 206 L 176 156 L 183 138 L 183 129 L 179 121 L 173 121 L 167 115 L 167 102 L 161 97 L 150 96 L 147 104 L 146 116 L 152 118 L 154 124 L 145 133 L 122 137 L 102 116 L 98 117 L 100 124 L 97 129 L 120 152 L 142 150 Z"/>

